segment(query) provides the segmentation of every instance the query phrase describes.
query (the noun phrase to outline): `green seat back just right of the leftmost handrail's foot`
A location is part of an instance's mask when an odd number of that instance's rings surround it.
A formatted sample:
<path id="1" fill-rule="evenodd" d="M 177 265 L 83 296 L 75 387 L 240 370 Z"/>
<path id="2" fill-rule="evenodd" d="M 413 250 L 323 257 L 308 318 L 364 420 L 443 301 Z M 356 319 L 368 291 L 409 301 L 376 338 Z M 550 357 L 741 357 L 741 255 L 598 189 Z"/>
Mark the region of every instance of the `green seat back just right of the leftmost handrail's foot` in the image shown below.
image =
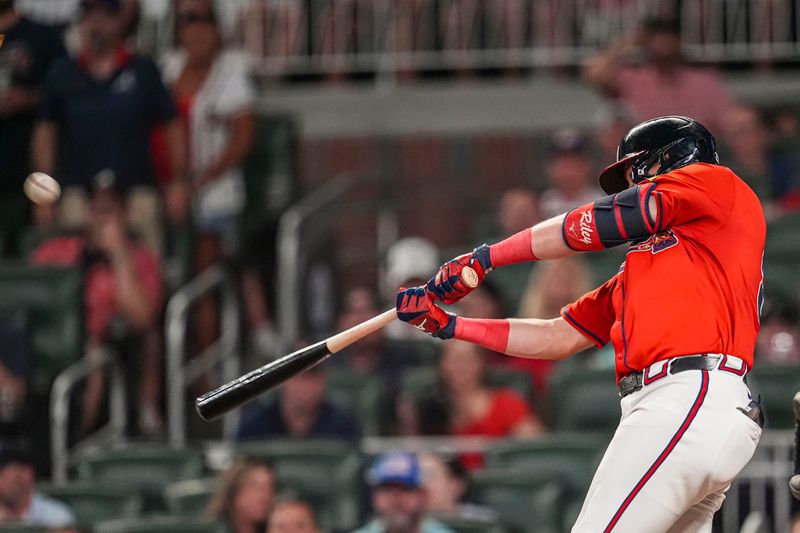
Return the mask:
<path id="1" fill-rule="evenodd" d="M 82 480 L 121 482 L 141 491 L 145 512 L 165 508 L 162 492 L 167 484 L 199 478 L 204 473 L 205 460 L 199 450 L 157 444 L 96 450 L 78 460 Z"/>

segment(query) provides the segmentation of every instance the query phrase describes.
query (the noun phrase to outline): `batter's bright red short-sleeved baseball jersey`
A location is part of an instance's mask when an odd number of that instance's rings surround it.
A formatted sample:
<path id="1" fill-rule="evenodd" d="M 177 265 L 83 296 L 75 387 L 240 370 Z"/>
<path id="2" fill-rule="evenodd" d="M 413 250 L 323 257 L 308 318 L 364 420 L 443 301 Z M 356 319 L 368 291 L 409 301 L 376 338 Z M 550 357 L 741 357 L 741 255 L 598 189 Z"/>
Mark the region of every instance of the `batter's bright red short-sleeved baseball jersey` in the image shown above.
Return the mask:
<path id="1" fill-rule="evenodd" d="M 724 353 L 753 366 L 766 223 L 730 169 L 696 163 L 651 179 L 656 227 L 619 273 L 564 307 L 598 347 L 614 346 L 617 379 L 670 357 Z"/>

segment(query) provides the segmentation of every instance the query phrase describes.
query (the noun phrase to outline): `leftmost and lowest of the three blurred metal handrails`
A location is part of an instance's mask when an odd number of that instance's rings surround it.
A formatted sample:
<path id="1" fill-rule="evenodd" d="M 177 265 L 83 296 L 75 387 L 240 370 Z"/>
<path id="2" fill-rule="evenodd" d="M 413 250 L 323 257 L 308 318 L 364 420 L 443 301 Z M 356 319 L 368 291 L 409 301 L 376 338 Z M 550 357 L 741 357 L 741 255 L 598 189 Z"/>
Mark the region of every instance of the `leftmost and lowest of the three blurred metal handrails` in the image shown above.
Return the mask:
<path id="1" fill-rule="evenodd" d="M 67 482 L 69 452 L 69 417 L 70 396 L 75 386 L 86 377 L 103 367 L 109 369 L 109 421 L 106 426 L 95 431 L 75 448 L 88 441 L 114 442 L 125 438 L 125 427 L 128 425 L 128 411 L 125 406 L 125 376 L 119 358 L 106 346 L 91 349 L 80 361 L 70 365 L 53 381 L 50 392 L 50 421 L 52 436 L 50 453 L 53 470 L 53 482 L 64 485 Z"/>

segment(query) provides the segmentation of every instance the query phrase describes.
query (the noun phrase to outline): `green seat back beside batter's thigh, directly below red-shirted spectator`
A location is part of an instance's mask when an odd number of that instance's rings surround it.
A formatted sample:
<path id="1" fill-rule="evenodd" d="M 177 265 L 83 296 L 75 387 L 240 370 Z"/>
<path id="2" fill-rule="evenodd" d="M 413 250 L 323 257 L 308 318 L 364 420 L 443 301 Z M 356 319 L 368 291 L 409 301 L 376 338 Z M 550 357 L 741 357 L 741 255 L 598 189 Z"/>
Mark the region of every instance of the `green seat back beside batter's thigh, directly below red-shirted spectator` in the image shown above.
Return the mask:
<path id="1" fill-rule="evenodd" d="M 555 433 L 535 440 L 506 440 L 490 446 L 484 457 L 495 469 L 551 472 L 564 478 L 571 496 L 583 495 L 609 439 L 586 433 Z"/>

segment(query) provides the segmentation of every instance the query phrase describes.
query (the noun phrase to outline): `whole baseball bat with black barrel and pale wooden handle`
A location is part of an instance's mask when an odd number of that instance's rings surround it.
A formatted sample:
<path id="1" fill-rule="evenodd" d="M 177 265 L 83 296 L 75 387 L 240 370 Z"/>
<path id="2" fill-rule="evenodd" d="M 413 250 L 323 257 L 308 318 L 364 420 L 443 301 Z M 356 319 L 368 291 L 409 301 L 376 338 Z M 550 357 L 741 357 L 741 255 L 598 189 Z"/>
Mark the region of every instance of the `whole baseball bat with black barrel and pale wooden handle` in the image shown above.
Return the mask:
<path id="1" fill-rule="evenodd" d="M 461 280 L 467 287 L 475 288 L 478 285 L 478 274 L 471 267 L 464 267 L 461 271 Z M 396 317 L 396 310 L 389 309 L 324 341 L 284 355 L 207 392 L 195 400 L 197 414 L 204 420 L 213 420 L 287 379 L 322 363 L 336 352 L 383 328 Z"/>

